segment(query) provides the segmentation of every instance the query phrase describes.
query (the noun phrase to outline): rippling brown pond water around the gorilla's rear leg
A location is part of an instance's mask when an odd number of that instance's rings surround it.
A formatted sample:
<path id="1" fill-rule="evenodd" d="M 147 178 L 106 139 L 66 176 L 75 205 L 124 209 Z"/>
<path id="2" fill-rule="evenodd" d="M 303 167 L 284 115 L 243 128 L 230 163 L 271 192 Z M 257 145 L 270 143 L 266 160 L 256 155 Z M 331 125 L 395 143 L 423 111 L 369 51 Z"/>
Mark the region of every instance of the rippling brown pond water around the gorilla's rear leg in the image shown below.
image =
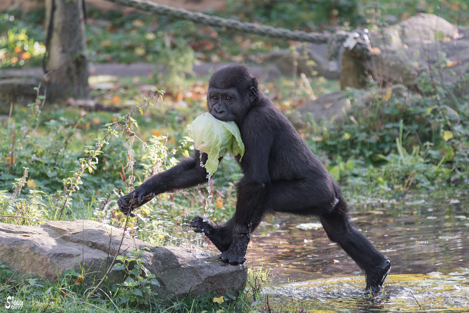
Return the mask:
<path id="1" fill-rule="evenodd" d="M 360 268 L 314 218 L 265 219 L 251 235 L 246 265 L 269 273 L 261 292 L 273 312 L 469 313 L 468 203 L 377 202 L 352 212 L 392 263 L 383 293 L 374 298 L 363 291 Z"/>

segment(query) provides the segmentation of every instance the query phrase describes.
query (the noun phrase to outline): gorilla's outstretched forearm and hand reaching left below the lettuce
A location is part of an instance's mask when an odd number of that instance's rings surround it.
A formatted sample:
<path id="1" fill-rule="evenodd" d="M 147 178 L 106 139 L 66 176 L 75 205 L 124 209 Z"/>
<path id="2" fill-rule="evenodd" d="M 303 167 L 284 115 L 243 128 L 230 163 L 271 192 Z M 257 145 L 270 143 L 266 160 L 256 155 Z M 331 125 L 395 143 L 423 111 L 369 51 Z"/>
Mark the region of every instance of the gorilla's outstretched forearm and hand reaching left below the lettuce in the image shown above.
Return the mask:
<path id="1" fill-rule="evenodd" d="M 203 163 L 207 161 L 207 158 L 207 154 L 202 153 Z M 206 181 L 207 171 L 200 166 L 200 153 L 195 150 L 194 156 L 183 159 L 174 167 L 151 176 L 135 191 L 120 197 L 117 203 L 121 212 L 127 215 L 160 193 L 194 187 Z"/>

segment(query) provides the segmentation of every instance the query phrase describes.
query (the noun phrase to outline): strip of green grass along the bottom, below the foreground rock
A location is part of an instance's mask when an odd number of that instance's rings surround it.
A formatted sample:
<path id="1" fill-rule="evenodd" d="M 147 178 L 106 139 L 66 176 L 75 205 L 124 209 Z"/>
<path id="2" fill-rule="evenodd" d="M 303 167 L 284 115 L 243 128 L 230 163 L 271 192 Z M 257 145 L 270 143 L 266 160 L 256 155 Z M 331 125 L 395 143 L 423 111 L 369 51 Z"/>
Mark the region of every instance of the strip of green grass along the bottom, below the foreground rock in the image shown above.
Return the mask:
<path id="1" fill-rule="evenodd" d="M 266 273 L 251 269 L 248 273 L 246 289 L 234 295 L 214 297 L 207 294 L 197 298 L 187 296 L 173 299 L 152 295 L 143 298 L 135 296 L 141 294 L 135 290 L 142 287 L 125 287 L 125 284 L 101 286 L 96 293 L 91 294 L 92 287 L 80 279 L 86 273 L 64 271 L 55 282 L 50 282 L 43 277 L 20 275 L 0 262 L 0 296 L 2 299 L 7 299 L 8 296 L 21 299 L 23 305 L 15 312 L 258 312 L 257 308 L 261 308 L 262 304 L 260 300 L 256 300 L 259 298 L 260 283 L 265 281 Z M 125 296 L 128 294 L 134 298 L 129 300 L 129 297 Z M 0 310 L 3 309 L 0 306 Z"/>

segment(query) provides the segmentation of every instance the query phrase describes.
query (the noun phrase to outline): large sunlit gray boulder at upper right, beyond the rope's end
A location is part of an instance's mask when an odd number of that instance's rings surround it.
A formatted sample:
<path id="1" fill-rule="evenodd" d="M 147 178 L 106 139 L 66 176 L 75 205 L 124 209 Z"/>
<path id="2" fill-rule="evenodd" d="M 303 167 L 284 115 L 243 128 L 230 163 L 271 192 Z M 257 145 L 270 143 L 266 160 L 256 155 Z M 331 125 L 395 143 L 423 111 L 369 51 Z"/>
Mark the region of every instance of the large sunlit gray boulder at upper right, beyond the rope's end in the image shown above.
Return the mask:
<path id="1" fill-rule="evenodd" d="M 420 89 L 417 78 L 430 74 L 430 68 L 434 80 L 445 84 L 458 81 L 468 72 L 468 29 L 437 15 L 420 13 L 383 31 L 384 35 L 379 30 L 371 33 L 371 45 L 381 50 L 370 62 L 371 71 L 388 75 L 394 84 Z M 441 72 L 439 62 L 443 65 Z"/>

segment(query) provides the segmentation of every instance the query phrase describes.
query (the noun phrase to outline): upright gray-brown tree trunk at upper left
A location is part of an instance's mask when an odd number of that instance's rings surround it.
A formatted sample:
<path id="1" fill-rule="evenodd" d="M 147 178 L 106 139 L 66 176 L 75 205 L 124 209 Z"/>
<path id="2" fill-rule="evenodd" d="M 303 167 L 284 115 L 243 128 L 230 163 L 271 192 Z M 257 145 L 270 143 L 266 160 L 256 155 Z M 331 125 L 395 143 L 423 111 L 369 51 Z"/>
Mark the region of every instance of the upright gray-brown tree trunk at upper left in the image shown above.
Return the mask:
<path id="1" fill-rule="evenodd" d="M 50 73 L 45 80 L 53 98 L 90 98 L 83 1 L 45 0 L 49 41 L 44 70 Z"/>

